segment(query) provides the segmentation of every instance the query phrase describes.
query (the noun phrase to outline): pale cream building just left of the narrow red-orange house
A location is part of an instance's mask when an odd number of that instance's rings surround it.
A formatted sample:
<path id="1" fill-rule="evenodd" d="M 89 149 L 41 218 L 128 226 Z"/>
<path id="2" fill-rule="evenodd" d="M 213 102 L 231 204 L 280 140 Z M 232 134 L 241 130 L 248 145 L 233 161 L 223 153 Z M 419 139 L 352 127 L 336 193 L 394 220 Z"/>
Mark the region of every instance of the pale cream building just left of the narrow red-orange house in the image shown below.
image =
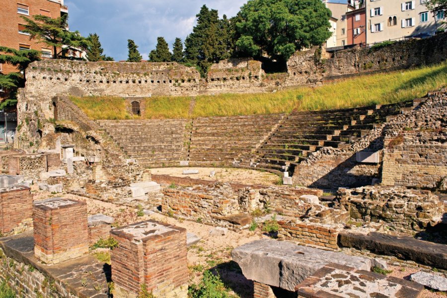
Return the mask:
<path id="1" fill-rule="evenodd" d="M 348 27 L 346 22 L 346 12 L 352 11 L 355 8 L 347 5 L 346 1 L 342 0 L 323 0 L 323 3 L 332 12 L 331 23 L 332 36 L 327 40 L 326 47 L 341 47 L 348 44 Z"/>

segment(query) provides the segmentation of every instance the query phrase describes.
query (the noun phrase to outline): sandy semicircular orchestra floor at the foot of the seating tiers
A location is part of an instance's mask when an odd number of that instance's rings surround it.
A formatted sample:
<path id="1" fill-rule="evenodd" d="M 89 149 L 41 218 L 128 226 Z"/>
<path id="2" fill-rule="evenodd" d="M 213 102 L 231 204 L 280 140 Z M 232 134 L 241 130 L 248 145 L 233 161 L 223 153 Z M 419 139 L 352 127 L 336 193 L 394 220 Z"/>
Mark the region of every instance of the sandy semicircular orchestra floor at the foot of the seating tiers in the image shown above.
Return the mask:
<path id="1" fill-rule="evenodd" d="M 184 170 L 199 170 L 199 174 L 183 175 Z M 270 172 L 236 169 L 236 168 L 213 168 L 213 167 L 171 167 L 150 169 L 152 174 L 169 175 L 174 177 L 190 177 L 203 180 L 219 180 L 221 182 L 237 182 L 241 184 L 276 185 L 280 177 Z M 211 171 L 216 171 L 214 177 L 210 177 Z M 282 183 L 281 183 L 282 184 Z"/>

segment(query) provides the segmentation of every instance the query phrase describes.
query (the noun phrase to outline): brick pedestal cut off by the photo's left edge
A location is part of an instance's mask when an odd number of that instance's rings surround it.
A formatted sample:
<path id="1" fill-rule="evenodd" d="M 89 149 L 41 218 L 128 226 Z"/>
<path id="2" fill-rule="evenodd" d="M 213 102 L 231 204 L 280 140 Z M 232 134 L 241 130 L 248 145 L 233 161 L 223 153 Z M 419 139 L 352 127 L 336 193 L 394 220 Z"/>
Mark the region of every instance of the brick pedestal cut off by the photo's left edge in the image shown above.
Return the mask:
<path id="1" fill-rule="evenodd" d="M 0 233 L 2 236 L 18 234 L 32 227 L 33 196 L 29 187 L 0 189 Z"/>

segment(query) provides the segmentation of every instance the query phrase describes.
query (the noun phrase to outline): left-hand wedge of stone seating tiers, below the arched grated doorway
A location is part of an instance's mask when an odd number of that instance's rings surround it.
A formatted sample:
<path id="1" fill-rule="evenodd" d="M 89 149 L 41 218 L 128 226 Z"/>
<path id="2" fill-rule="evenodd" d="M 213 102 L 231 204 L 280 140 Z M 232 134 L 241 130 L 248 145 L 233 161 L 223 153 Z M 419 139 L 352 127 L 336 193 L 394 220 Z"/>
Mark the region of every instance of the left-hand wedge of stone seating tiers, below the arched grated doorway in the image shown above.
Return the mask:
<path id="1" fill-rule="evenodd" d="M 101 120 L 100 127 L 144 167 L 178 166 L 188 156 L 186 119 Z M 185 149 L 186 148 L 186 149 Z"/>

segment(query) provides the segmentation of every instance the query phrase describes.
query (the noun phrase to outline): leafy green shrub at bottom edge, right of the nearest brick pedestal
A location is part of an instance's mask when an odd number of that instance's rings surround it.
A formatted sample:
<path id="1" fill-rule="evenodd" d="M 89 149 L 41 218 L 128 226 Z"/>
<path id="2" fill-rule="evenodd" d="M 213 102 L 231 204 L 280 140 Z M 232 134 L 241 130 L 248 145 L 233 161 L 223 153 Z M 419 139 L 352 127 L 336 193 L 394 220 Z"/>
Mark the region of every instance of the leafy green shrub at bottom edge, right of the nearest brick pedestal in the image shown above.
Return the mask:
<path id="1" fill-rule="evenodd" d="M 199 285 L 191 285 L 188 289 L 190 298 L 230 298 L 221 278 L 207 270 L 203 273 Z"/>

